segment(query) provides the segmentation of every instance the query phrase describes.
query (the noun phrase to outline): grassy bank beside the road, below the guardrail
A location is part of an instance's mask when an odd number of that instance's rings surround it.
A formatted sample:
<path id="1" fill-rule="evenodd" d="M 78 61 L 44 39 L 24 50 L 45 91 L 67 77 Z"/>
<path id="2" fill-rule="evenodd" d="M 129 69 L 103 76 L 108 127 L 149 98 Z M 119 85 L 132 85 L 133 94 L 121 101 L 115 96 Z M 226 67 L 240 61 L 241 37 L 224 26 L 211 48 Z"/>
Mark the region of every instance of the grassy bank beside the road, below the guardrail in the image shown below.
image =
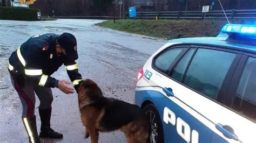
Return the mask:
<path id="1" fill-rule="evenodd" d="M 235 24 L 250 24 L 255 21 L 234 20 Z M 142 20 L 122 19 L 107 20 L 98 26 L 113 30 L 148 35 L 152 37 L 175 39 L 185 37 L 209 37 L 218 35 L 221 27 L 227 24 L 226 20 Z"/>

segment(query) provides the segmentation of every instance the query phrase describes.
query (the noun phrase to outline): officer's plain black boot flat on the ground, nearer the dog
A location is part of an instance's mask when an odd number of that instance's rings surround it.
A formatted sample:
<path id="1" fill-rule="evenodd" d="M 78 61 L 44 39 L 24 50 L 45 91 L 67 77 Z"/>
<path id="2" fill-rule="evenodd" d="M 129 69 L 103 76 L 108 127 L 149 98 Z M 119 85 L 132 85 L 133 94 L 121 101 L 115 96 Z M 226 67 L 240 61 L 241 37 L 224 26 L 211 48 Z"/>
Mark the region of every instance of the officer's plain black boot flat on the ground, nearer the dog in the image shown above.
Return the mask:
<path id="1" fill-rule="evenodd" d="M 55 132 L 50 127 L 50 120 L 51 120 L 51 108 L 50 109 L 40 109 L 39 108 L 39 115 L 41 118 L 41 132 L 39 136 L 41 138 L 54 138 L 60 139 L 63 138 L 62 133 Z"/>

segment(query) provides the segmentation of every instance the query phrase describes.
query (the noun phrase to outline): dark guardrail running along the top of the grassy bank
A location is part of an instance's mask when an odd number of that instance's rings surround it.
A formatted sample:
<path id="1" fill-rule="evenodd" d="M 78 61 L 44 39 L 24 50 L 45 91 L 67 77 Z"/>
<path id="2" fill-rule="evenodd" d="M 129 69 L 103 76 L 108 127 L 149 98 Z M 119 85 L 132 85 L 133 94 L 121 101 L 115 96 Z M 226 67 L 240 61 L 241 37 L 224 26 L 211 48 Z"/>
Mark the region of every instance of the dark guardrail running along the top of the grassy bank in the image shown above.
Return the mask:
<path id="1" fill-rule="evenodd" d="M 228 19 L 256 19 L 256 9 L 250 10 L 225 10 Z M 226 19 L 222 10 L 202 11 L 141 11 L 135 18 L 140 19 Z M 126 13 L 126 18 L 129 13 Z"/>

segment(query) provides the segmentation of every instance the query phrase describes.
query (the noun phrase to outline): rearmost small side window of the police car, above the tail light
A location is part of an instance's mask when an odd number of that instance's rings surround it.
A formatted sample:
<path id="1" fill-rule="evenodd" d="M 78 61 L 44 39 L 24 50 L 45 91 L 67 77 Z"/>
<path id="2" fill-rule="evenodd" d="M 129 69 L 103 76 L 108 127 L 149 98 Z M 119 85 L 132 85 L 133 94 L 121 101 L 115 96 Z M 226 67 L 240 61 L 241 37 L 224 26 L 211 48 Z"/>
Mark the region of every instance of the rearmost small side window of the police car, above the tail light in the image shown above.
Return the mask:
<path id="1" fill-rule="evenodd" d="M 183 48 L 173 48 L 165 51 L 163 54 L 159 55 L 154 61 L 156 68 L 161 71 L 166 72 L 171 66 L 172 62 L 177 58 L 177 56 L 183 51 Z"/>

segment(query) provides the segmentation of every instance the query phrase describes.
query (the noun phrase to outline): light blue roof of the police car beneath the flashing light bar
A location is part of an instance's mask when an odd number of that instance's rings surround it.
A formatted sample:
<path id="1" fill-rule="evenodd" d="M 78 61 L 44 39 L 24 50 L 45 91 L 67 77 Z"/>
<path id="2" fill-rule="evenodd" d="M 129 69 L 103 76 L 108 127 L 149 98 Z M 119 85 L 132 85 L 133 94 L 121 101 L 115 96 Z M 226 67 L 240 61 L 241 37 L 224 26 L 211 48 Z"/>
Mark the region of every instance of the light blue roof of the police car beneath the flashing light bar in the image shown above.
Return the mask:
<path id="1" fill-rule="evenodd" d="M 228 42 L 226 39 L 228 38 L 225 34 L 219 34 L 217 37 L 196 37 L 196 38 L 180 38 L 169 40 L 167 43 L 177 42 L 182 44 L 195 44 L 195 45 L 214 45 L 214 46 L 222 46 L 230 49 L 240 49 L 246 51 L 256 52 L 256 46 L 240 44 L 235 42 Z"/>

